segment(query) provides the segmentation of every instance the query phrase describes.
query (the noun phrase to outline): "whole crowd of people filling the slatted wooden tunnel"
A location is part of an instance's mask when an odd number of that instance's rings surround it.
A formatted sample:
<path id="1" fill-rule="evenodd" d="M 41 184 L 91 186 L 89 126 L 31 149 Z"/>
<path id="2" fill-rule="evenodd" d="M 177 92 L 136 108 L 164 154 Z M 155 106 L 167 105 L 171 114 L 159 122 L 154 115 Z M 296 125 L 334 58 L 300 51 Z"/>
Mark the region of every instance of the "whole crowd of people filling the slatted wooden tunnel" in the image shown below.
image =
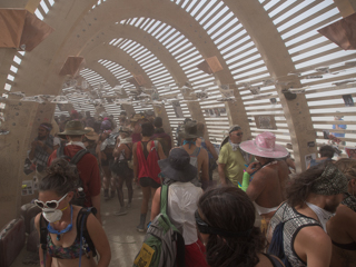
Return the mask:
<path id="1" fill-rule="evenodd" d="M 36 227 L 48 229 L 41 266 L 108 266 L 101 188 L 107 201 L 118 196 L 115 215 L 123 216 L 134 182 L 142 192 L 136 229 L 146 231 L 165 201 L 184 237 L 185 266 L 356 266 L 356 160 L 333 160 L 333 147 L 322 147 L 320 158 L 290 178 L 294 161 L 268 131 L 243 141 L 244 129 L 231 126 L 217 151 L 206 126 L 191 119 L 179 127 L 176 146 L 151 113 L 123 111 L 116 123 L 72 111 L 58 127 L 53 137 L 53 127 L 41 123 L 29 151 L 42 209 Z"/>

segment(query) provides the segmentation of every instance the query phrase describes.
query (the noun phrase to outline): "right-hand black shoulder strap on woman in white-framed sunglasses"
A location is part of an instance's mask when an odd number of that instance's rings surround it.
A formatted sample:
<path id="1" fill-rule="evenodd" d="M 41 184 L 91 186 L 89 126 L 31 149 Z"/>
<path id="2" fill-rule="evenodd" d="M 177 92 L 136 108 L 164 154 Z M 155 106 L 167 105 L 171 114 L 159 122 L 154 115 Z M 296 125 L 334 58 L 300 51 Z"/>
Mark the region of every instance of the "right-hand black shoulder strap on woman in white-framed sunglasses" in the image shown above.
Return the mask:
<path id="1" fill-rule="evenodd" d="M 78 212 L 77 217 L 77 238 L 80 239 L 80 235 L 86 239 L 86 243 L 88 244 L 90 251 L 92 253 L 92 257 L 97 256 L 97 249 L 93 245 L 93 241 L 90 238 L 89 231 L 87 229 L 87 219 L 90 214 L 96 215 L 97 209 L 93 207 L 90 208 L 81 208 Z"/>

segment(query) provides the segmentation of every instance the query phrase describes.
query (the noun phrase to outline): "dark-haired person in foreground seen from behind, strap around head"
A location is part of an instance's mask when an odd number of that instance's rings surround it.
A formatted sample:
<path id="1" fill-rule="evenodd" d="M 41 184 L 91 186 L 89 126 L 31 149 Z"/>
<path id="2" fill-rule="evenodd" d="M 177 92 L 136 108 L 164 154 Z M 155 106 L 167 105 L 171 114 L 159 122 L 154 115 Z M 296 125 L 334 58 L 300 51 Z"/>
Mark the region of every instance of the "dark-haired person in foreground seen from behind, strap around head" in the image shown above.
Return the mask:
<path id="1" fill-rule="evenodd" d="M 225 186 L 206 191 L 195 219 L 210 267 L 284 266 L 277 257 L 263 253 L 263 235 L 254 226 L 255 207 L 241 189 Z"/>

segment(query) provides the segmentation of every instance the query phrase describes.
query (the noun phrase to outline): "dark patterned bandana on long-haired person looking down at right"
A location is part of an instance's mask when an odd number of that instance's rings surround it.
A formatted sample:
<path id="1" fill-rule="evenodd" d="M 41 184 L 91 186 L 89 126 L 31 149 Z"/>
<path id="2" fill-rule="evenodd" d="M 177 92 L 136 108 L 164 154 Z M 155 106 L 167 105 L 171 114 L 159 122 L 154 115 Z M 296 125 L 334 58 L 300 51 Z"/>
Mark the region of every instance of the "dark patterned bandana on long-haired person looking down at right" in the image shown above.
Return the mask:
<path id="1" fill-rule="evenodd" d="M 323 196 L 347 192 L 347 178 L 336 166 L 327 165 L 322 176 L 315 180 L 312 192 Z"/>

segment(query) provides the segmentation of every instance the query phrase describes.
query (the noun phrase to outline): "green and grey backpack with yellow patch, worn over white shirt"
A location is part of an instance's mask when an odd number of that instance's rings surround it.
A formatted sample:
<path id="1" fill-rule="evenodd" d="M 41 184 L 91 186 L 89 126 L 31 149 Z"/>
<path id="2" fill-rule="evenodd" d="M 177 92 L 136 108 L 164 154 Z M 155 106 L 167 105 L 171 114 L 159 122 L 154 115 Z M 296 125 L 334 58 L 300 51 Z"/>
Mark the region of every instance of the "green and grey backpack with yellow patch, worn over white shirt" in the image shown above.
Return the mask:
<path id="1" fill-rule="evenodd" d="M 160 214 L 151 221 L 134 267 L 184 267 L 185 240 L 167 214 L 168 186 L 160 192 Z"/>

